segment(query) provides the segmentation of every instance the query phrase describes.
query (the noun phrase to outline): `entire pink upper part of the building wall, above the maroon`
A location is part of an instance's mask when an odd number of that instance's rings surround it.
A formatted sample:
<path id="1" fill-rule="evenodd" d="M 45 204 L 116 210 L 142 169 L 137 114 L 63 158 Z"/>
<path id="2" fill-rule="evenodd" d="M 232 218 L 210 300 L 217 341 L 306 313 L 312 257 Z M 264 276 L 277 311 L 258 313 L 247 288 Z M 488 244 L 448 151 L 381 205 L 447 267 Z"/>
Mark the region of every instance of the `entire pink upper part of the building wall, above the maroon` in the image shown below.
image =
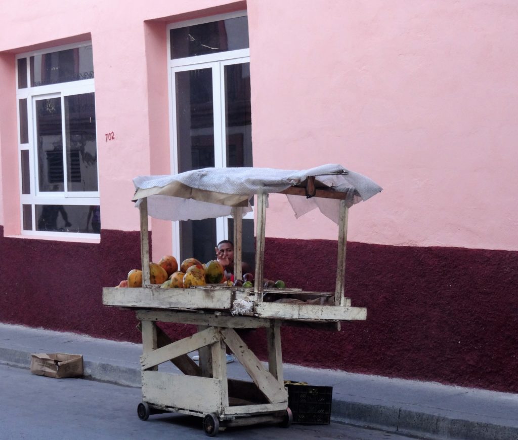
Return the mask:
<path id="1" fill-rule="evenodd" d="M 4 188 L 18 182 L 5 63 L 12 68 L 14 53 L 91 34 L 103 228 L 137 230 L 131 179 L 167 172 L 169 160 L 165 23 L 244 2 L 83 5 L 3 6 Z M 518 250 L 516 2 L 249 0 L 247 7 L 256 166 L 336 162 L 377 181 L 384 191 L 351 210 L 348 237 L 356 242 Z M 116 139 L 106 143 L 111 131 Z M 0 207 L 7 235 L 19 233 L 16 214 L 5 215 L 16 211 L 17 192 L 4 193 Z M 320 214 L 291 222 L 287 204 L 271 206 L 271 237 L 336 237 Z M 170 232 L 152 227 L 165 237 L 159 256 Z"/>

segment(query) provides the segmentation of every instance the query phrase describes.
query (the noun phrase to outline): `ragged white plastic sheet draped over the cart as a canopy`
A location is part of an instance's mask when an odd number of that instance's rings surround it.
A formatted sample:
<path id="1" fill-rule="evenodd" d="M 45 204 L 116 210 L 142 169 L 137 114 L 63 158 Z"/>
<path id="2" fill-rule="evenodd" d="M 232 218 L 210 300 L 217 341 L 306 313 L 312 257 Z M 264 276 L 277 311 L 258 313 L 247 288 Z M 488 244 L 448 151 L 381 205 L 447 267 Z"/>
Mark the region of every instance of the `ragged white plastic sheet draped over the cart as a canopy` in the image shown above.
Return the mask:
<path id="1" fill-rule="evenodd" d="M 139 176 L 133 179 L 134 200 L 148 198 L 148 214 L 164 220 L 202 220 L 231 215 L 233 206 L 244 206 L 254 194 L 278 193 L 315 176 L 315 186 L 346 193 L 348 206 L 368 200 L 382 190 L 368 177 L 341 165 L 328 164 L 295 171 L 276 168 L 203 168 L 167 176 Z M 339 201 L 328 198 L 288 195 L 300 217 L 319 208 L 338 223 Z"/>

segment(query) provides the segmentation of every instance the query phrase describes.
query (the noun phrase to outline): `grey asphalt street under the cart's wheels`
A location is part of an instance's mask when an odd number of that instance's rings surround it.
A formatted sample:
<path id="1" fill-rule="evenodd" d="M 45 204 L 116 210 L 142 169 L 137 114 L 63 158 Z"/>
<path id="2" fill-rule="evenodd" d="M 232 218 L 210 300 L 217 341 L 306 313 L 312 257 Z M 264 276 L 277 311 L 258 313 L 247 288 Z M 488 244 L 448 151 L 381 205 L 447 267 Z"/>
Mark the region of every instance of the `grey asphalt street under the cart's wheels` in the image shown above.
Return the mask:
<path id="1" fill-rule="evenodd" d="M 36 376 L 0 365 L 0 439 L 161 439 L 208 438 L 202 419 L 181 414 L 137 417 L 140 388 L 85 379 Z M 220 431 L 218 438 L 356 440 L 416 438 L 332 422 L 290 428 L 253 426 Z"/>

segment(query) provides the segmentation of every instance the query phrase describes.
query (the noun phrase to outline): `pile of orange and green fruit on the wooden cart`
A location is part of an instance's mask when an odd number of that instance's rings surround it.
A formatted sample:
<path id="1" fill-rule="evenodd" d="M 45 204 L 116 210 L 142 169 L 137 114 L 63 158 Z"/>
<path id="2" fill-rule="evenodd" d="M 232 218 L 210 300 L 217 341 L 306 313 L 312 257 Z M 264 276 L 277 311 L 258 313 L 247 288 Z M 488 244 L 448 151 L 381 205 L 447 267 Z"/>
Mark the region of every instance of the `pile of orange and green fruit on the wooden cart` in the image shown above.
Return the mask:
<path id="1" fill-rule="evenodd" d="M 183 260 L 180 267 L 175 257 L 166 255 L 158 263 L 149 263 L 150 283 L 160 285 L 161 288 L 188 289 L 193 286 L 206 286 L 207 284 L 222 284 L 225 286 L 253 287 L 253 274 L 244 274 L 243 279 L 234 282 L 227 280 L 225 269 L 217 260 L 211 260 L 206 264 L 195 258 Z M 286 287 L 284 281 L 271 281 L 265 279 L 265 288 Z M 142 287 L 142 271 L 132 269 L 127 279 L 122 280 L 116 287 Z"/>

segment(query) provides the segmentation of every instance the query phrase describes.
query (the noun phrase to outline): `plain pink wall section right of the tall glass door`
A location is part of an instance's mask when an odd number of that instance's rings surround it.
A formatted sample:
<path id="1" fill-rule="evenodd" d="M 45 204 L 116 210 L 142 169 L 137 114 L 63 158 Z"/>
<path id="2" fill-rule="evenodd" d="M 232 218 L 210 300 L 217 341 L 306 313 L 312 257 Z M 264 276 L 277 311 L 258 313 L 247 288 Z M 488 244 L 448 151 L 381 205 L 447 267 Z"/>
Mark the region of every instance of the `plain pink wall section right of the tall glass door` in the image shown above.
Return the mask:
<path id="1" fill-rule="evenodd" d="M 354 241 L 518 249 L 516 2 L 248 5 L 257 166 L 325 156 L 377 181 Z M 268 235 L 334 238 L 318 218 Z"/>

